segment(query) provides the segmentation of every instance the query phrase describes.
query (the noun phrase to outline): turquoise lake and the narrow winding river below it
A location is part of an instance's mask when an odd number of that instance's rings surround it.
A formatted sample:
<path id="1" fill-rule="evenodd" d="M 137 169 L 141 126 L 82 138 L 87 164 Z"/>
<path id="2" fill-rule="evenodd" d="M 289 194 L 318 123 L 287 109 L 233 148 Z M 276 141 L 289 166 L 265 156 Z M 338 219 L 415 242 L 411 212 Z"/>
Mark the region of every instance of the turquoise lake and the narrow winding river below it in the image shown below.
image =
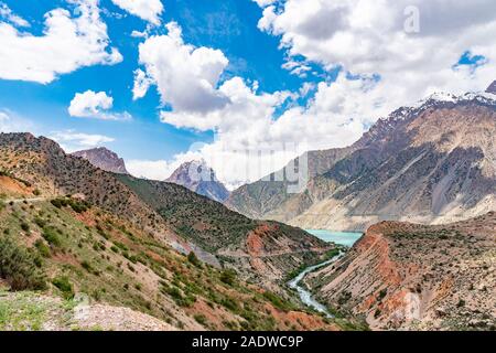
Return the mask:
<path id="1" fill-rule="evenodd" d="M 362 233 L 343 233 L 343 232 L 328 232 L 328 231 L 306 231 L 310 234 L 316 236 L 317 238 L 321 238 L 324 242 L 327 243 L 335 243 L 344 246 L 353 246 L 360 237 Z M 326 260 L 322 264 L 310 266 L 305 268 L 300 275 L 298 275 L 294 279 L 292 279 L 288 286 L 294 290 L 298 291 L 298 295 L 300 296 L 301 301 L 316 310 L 317 312 L 324 313 L 327 318 L 333 318 L 331 312 L 328 312 L 327 308 L 320 303 L 319 301 L 313 298 L 313 295 L 302 285 L 302 280 L 305 278 L 306 275 L 310 272 L 313 272 L 320 268 L 323 268 L 327 265 L 331 265 L 332 263 L 338 260 L 343 254 L 339 254 L 335 257 L 333 257 L 330 260 Z"/>

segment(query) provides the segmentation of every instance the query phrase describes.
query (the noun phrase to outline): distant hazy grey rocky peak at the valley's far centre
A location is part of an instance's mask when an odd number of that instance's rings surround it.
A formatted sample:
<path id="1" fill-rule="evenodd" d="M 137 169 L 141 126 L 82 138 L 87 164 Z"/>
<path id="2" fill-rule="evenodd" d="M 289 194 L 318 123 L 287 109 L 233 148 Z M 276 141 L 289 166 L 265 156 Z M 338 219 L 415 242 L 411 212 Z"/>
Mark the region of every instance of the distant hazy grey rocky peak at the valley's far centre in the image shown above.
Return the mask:
<path id="1" fill-rule="evenodd" d="M 229 197 L 229 191 L 217 180 L 214 170 L 201 161 L 181 164 L 165 181 L 217 202 L 224 202 Z"/>

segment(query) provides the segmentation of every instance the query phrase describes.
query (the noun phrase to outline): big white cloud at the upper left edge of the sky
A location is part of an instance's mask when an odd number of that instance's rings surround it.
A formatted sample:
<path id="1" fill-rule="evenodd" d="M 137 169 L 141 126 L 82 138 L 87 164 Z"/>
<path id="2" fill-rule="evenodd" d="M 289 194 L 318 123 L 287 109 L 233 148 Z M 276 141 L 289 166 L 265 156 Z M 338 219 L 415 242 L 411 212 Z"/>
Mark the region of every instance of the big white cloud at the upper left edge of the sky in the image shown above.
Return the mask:
<path id="1" fill-rule="evenodd" d="M 0 78 L 47 84 L 84 66 L 122 61 L 119 51 L 109 47 L 98 0 L 67 2 L 76 4 L 77 17 L 65 9 L 47 12 L 43 35 L 0 22 Z"/>

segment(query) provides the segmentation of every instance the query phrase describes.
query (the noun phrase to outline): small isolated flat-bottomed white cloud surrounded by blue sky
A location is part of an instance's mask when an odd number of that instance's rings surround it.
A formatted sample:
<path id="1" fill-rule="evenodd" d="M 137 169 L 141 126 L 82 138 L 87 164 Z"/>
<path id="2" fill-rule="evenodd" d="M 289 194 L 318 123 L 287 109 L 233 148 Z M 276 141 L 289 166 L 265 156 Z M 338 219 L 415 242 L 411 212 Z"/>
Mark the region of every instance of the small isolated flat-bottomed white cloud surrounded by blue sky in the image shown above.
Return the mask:
<path id="1" fill-rule="evenodd" d="M 72 117 L 95 118 L 101 120 L 129 120 L 131 116 L 128 113 L 115 114 L 108 113 L 114 106 L 114 98 L 107 96 L 105 92 L 86 90 L 76 93 L 68 113 Z"/>

